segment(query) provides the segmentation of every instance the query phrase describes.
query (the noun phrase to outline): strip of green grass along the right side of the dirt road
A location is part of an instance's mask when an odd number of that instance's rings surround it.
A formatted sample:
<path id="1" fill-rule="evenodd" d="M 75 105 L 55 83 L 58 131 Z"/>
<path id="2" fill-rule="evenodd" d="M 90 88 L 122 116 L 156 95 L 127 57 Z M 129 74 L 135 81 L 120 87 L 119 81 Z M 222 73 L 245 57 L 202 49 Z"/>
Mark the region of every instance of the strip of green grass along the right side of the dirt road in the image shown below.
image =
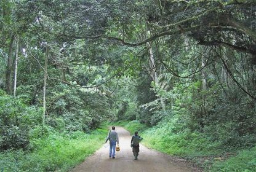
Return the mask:
<path id="1" fill-rule="evenodd" d="M 231 151 L 223 147 L 221 142 L 210 141 L 209 138 L 199 132 L 183 131 L 172 132 L 172 125 L 160 123 L 155 127 L 146 127 L 134 120 L 131 122 L 116 122 L 130 133 L 139 131 L 142 136 L 142 144 L 157 151 L 185 158 L 193 162 L 204 171 L 256 171 L 256 147 L 250 150 L 236 149 Z"/>

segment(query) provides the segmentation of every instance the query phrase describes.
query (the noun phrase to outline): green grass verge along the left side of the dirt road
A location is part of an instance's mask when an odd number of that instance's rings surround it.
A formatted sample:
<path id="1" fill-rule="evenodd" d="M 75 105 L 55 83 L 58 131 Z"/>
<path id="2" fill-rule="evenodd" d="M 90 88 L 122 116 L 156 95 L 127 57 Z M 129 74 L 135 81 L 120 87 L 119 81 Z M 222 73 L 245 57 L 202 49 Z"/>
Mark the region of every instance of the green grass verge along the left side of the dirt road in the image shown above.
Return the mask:
<path id="1" fill-rule="evenodd" d="M 8 151 L 0 154 L 0 171 L 68 171 L 93 154 L 102 144 L 107 130 L 81 131 L 62 136 L 52 133 L 33 141 L 33 151 Z"/>

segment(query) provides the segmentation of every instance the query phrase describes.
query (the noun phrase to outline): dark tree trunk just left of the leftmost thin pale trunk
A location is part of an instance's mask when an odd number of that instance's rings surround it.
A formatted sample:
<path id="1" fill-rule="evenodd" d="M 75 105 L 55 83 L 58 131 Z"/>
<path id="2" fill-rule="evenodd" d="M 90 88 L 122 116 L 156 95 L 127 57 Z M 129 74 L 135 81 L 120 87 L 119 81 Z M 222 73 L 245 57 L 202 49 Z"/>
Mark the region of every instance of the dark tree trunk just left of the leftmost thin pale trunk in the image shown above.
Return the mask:
<path id="1" fill-rule="evenodd" d="M 6 66 L 6 92 L 11 91 L 11 79 L 12 79 L 12 45 L 14 44 L 14 35 L 10 39 L 8 60 Z"/>

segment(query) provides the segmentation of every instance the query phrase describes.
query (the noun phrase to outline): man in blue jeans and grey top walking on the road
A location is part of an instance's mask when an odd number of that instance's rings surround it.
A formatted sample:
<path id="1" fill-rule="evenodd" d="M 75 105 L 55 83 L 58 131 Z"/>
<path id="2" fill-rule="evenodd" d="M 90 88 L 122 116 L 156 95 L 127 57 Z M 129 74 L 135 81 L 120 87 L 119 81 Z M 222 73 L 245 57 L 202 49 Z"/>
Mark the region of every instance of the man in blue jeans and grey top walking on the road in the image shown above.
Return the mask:
<path id="1" fill-rule="evenodd" d="M 119 144 L 118 133 L 114 131 L 115 127 L 112 127 L 112 130 L 108 133 L 105 143 L 110 140 L 110 158 L 114 158 L 116 153 L 116 143 Z"/>

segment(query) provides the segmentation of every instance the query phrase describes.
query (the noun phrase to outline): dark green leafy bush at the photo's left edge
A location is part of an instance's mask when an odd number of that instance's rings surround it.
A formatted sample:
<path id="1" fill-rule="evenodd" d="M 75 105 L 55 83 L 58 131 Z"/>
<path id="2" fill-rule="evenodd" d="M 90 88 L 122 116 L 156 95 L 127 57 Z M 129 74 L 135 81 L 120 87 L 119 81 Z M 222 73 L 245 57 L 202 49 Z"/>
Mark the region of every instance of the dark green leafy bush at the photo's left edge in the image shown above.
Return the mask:
<path id="1" fill-rule="evenodd" d="M 30 128 L 41 124 L 42 111 L 26 106 L 18 98 L 1 94 L 0 149 L 27 148 L 30 143 Z"/>

